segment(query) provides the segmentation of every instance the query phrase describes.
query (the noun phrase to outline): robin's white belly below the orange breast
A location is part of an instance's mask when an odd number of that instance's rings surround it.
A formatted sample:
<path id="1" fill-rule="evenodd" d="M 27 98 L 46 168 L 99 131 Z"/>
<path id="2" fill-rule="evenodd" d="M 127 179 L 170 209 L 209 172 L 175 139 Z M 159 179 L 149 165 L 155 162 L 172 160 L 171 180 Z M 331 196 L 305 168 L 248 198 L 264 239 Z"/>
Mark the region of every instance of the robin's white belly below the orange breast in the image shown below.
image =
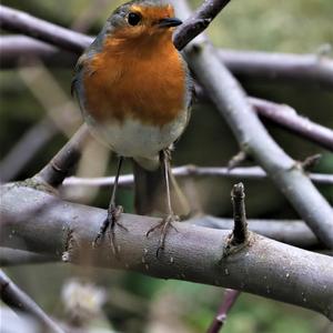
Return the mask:
<path id="1" fill-rule="evenodd" d="M 184 110 L 174 121 L 163 127 L 142 124 L 135 119 L 99 124 L 88 114 L 84 118 L 92 134 L 119 155 L 151 159 L 182 134 L 188 117 Z"/>

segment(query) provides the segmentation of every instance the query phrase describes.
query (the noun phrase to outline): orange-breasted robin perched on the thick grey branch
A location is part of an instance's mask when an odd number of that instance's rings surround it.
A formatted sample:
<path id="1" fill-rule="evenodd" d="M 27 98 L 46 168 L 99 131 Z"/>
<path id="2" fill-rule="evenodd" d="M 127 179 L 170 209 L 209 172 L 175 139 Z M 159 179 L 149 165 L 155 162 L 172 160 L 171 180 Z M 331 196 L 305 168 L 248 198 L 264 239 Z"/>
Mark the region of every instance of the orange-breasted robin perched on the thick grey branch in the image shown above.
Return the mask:
<path id="1" fill-rule="evenodd" d="M 170 167 L 173 143 L 190 120 L 193 94 L 188 64 L 172 42 L 180 24 L 167 1 L 127 2 L 113 11 L 74 69 L 72 93 L 90 132 L 119 157 L 108 216 L 94 241 L 111 230 L 113 252 L 115 225 L 125 229 L 119 222 L 122 206 L 115 204 L 124 158 L 134 161 L 135 205 L 141 213 L 157 201 L 161 178 L 164 182 L 167 215 L 147 232 L 149 236 L 161 229 L 158 253 L 173 222 L 189 213 Z M 147 204 L 140 204 L 144 195 Z"/>

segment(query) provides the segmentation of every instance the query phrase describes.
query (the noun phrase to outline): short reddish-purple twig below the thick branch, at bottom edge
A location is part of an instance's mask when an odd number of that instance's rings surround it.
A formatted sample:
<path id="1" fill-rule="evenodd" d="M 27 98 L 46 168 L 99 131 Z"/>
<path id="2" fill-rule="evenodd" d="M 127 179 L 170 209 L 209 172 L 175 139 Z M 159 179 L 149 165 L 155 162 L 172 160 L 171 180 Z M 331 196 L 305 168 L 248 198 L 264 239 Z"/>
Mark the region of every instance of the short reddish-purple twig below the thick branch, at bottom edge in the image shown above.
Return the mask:
<path id="1" fill-rule="evenodd" d="M 219 333 L 220 330 L 223 327 L 226 316 L 232 307 L 232 305 L 235 303 L 238 297 L 240 296 L 241 292 L 233 289 L 226 289 L 224 292 L 224 299 L 223 303 L 219 307 L 218 314 L 214 317 L 214 321 L 212 322 L 211 326 L 206 331 L 208 333 Z"/>

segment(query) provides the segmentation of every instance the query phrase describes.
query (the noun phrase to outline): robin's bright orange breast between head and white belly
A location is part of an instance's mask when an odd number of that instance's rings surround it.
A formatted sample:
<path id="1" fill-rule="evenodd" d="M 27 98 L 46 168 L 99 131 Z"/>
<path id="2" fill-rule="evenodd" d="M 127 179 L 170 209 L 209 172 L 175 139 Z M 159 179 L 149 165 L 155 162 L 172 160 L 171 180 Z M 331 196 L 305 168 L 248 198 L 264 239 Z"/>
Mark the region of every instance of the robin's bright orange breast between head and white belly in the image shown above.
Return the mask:
<path id="1" fill-rule="evenodd" d="M 132 117 L 162 127 L 185 108 L 185 69 L 171 36 L 109 38 L 88 65 L 85 110 L 99 122 Z"/>

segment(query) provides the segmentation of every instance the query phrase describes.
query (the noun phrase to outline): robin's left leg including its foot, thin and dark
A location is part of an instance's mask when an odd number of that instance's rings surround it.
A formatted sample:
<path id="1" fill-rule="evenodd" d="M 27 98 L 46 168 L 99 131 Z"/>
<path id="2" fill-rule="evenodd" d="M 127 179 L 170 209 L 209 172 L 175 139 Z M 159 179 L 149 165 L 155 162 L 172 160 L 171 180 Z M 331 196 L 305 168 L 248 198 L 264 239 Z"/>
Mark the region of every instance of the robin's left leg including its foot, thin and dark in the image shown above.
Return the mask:
<path id="1" fill-rule="evenodd" d="M 94 242 L 93 242 L 93 246 L 97 246 L 99 240 L 102 239 L 102 236 L 105 234 L 108 228 L 110 226 L 109 236 L 110 236 L 110 243 L 111 243 L 113 253 L 117 253 L 115 245 L 114 245 L 114 226 L 119 225 L 122 229 L 127 230 L 127 228 L 123 226 L 119 222 L 119 218 L 123 212 L 123 208 L 121 205 L 115 205 L 115 194 L 117 194 L 117 189 L 118 189 L 119 174 L 120 174 L 120 170 L 121 170 L 121 165 L 122 165 L 122 160 L 123 160 L 123 158 L 120 157 L 119 161 L 118 161 L 117 174 L 115 174 L 114 184 L 112 188 L 110 204 L 108 208 L 108 216 L 104 220 L 103 224 L 101 225 L 100 231 L 97 234 Z"/>

